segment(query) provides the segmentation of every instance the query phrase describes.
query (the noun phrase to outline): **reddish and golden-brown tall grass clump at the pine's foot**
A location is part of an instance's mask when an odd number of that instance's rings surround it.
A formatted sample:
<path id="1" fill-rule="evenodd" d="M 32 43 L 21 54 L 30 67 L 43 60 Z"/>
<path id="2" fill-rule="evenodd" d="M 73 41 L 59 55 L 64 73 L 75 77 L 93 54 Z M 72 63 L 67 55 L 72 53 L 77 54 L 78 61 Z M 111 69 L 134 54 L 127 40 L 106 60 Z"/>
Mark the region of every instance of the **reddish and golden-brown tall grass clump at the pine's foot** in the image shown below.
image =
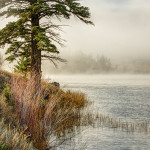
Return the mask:
<path id="1" fill-rule="evenodd" d="M 1 104 L 5 123 L 19 124 L 26 136 L 38 150 L 56 147 L 74 136 L 80 126 L 80 112 L 87 106 L 84 94 L 62 91 L 60 88 L 42 82 L 40 91 L 35 91 L 34 79 L 15 74 L 10 84 L 11 98 Z M 8 115 L 8 116 L 7 116 Z M 49 142 L 48 142 L 49 141 Z M 53 145 L 53 146 L 52 146 Z"/>

